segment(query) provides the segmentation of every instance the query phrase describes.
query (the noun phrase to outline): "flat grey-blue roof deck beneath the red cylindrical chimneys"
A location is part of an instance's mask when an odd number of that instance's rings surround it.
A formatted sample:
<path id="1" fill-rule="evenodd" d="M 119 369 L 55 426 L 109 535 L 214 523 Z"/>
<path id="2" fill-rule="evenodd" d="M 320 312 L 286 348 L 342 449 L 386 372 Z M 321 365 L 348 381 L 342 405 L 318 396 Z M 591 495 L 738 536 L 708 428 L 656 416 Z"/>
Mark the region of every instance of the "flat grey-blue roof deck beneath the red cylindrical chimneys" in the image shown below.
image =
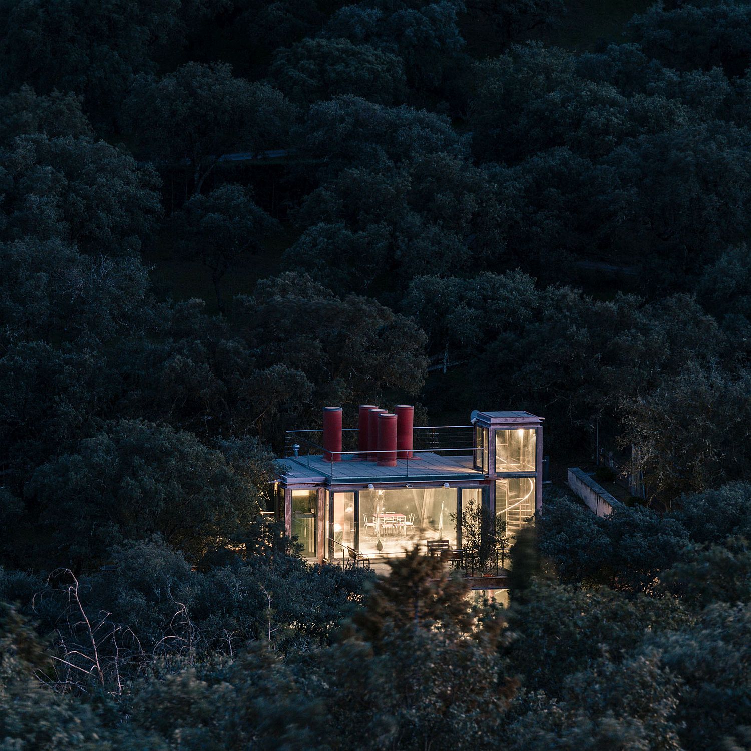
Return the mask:
<path id="1" fill-rule="evenodd" d="M 397 459 L 396 466 L 382 466 L 378 462 L 354 457 L 340 462 L 324 460 L 322 456 L 285 457 L 279 463 L 285 484 L 348 484 L 377 482 L 415 482 L 436 480 L 478 480 L 486 477 L 475 469 L 473 457 L 442 457 L 432 451 L 421 451 L 412 459 Z"/>

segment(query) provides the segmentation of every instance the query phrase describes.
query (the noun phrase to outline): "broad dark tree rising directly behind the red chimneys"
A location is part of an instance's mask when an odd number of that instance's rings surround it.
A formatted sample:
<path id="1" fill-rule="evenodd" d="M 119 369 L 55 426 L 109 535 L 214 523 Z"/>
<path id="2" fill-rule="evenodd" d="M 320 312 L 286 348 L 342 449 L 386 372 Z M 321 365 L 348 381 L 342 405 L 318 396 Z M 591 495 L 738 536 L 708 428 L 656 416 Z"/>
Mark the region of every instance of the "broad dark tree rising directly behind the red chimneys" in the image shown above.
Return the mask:
<path id="1" fill-rule="evenodd" d="M 337 297 L 308 276 L 260 282 L 253 297 L 235 299 L 232 318 L 252 349 L 263 344 L 258 366 L 302 371 L 312 384 L 311 403 L 298 395 L 288 418 L 324 403 L 377 401 L 387 388 L 415 394 L 424 380 L 424 334 L 412 321 L 366 297 Z M 259 423 L 278 419 L 267 400 Z"/>

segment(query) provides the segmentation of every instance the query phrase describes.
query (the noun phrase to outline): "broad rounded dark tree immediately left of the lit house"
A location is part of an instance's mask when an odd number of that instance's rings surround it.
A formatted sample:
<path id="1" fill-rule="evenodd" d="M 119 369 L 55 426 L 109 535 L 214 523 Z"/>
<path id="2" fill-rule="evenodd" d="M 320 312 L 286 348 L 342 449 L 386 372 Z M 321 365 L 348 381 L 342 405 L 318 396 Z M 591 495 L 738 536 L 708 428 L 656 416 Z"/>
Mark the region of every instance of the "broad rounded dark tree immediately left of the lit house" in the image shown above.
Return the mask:
<path id="1" fill-rule="evenodd" d="M 107 424 L 76 453 L 38 467 L 26 486 L 65 565 L 101 560 L 120 539 L 159 532 L 192 559 L 258 513 L 258 498 L 219 451 L 195 436 L 136 421 Z"/>

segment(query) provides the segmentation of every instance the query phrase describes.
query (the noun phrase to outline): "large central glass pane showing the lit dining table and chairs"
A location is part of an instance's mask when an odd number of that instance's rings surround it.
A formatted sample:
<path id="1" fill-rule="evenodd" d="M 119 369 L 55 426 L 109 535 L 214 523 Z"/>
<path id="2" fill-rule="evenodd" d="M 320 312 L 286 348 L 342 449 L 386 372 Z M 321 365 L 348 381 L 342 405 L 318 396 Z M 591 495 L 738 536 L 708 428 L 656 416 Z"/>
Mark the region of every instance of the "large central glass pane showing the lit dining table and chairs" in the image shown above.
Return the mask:
<path id="1" fill-rule="evenodd" d="M 338 495 L 338 493 L 337 493 Z M 391 555 L 428 540 L 457 546 L 456 488 L 360 490 L 360 551 Z"/>

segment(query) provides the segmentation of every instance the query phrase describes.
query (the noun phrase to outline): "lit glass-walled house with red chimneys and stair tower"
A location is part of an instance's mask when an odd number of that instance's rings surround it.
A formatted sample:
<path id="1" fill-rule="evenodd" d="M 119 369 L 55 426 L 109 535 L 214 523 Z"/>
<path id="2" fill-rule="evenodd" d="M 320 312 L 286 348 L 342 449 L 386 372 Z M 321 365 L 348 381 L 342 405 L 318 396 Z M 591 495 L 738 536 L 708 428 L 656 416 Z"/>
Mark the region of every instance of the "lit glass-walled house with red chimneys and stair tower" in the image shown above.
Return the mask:
<path id="1" fill-rule="evenodd" d="M 542 501 L 542 421 L 529 412 L 472 412 L 470 424 L 413 426 L 413 409 L 324 409 L 324 429 L 288 431 L 276 517 L 303 553 L 370 559 L 415 544 L 462 548 L 462 511 L 484 507 L 513 535 Z"/>

